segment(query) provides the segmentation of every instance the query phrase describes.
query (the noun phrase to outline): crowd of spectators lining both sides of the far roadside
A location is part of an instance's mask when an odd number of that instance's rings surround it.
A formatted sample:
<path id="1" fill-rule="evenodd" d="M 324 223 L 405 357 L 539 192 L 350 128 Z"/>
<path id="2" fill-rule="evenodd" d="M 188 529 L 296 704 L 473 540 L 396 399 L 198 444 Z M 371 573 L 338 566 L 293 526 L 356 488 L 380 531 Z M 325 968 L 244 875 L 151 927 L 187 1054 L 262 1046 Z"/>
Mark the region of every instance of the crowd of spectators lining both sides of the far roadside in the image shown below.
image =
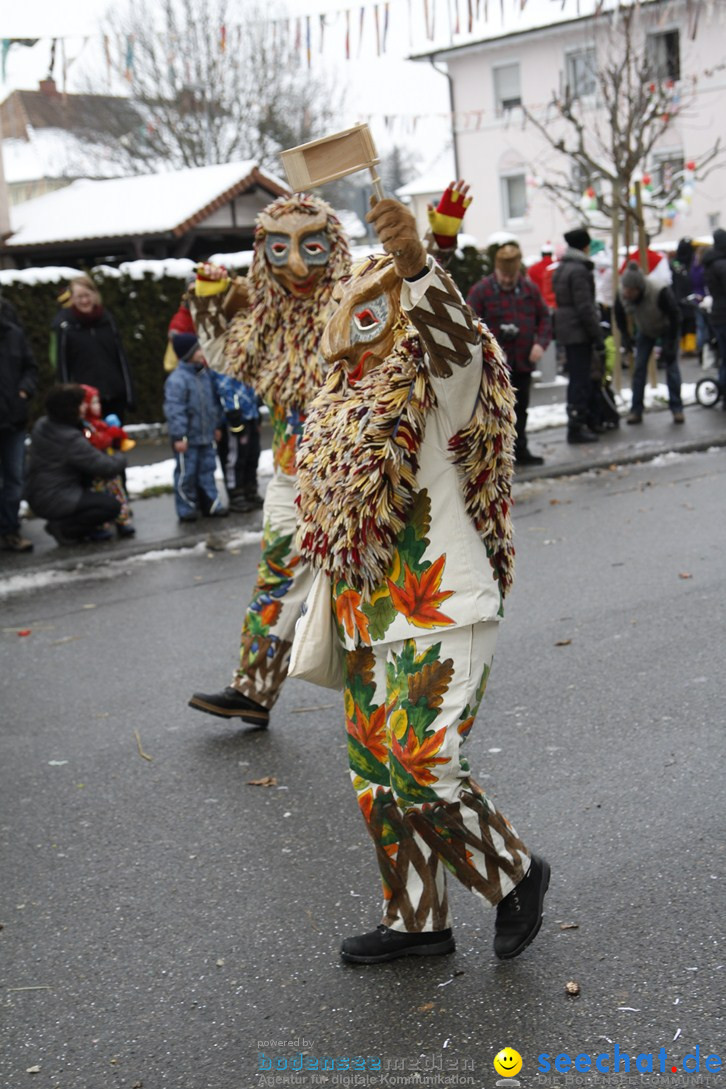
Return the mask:
<path id="1" fill-rule="evenodd" d="M 656 247 L 625 256 L 614 282 L 613 259 L 585 227 L 557 245 L 544 243 L 527 265 L 516 236 L 497 235 L 491 272 L 470 287 L 467 303 L 496 338 L 515 394 L 515 461 L 538 466 L 528 411 L 542 356 L 555 345 L 567 376 L 567 441 L 598 442 L 620 423 L 612 394 L 617 329 L 624 366 L 631 368 L 629 425 L 643 423 L 649 368 L 665 371 L 668 407 L 685 423 L 681 353 L 718 360 L 726 407 L 726 231 L 713 245 L 681 238 L 667 258 Z M 209 366 L 195 326 L 196 274 L 169 322 L 163 412 L 174 458 L 173 492 L 181 523 L 249 513 L 262 506 L 259 389 Z M 134 517 L 125 488 L 125 453 L 133 440 L 124 420 L 134 407 L 133 358 L 93 280 L 71 280 L 52 321 L 50 360 L 58 387 L 32 429 L 37 362 L 13 308 L 0 302 L 0 548 L 29 552 L 21 500 L 47 521 L 60 544 L 131 537 Z M 298 301 L 299 303 L 299 301 Z M 33 413 L 33 415 L 37 415 Z M 274 428 L 274 420 L 273 420 Z M 218 487 L 217 465 L 224 488 Z"/>

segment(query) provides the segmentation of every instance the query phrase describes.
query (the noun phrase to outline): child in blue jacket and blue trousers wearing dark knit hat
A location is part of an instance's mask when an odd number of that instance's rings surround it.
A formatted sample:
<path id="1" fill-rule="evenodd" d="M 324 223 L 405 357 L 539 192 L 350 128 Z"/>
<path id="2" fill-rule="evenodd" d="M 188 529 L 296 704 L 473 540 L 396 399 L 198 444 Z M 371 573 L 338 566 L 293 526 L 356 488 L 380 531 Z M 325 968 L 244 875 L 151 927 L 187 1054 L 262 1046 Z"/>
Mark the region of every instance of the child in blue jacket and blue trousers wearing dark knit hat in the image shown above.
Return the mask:
<path id="1" fill-rule="evenodd" d="M 174 503 L 180 522 L 196 522 L 199 513 L 227 513 L 214 482 L 217 448 L 224 414 L 212 376 L 194 333 L 176 333 L 172 346 L 179 367 L 164 382 L 164 416 L 176 465 Z"/>

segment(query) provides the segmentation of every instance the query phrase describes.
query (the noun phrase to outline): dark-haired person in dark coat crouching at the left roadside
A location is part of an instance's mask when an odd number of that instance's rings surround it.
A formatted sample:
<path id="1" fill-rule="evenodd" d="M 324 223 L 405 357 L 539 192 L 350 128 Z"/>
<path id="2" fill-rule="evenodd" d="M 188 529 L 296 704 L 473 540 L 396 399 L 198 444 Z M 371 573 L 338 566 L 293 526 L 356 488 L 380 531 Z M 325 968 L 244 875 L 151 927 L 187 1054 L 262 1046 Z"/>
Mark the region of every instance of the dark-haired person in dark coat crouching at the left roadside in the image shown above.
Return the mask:
<path id="1" fill-rule="evenodd" d="M 47 415 L 33 428 L 26 499 L 34 514 L 48 518 L 46 533 L 59 544 L 108 540 L 106 523 L 114 522 L 121 503 L 94 491 L 94 478 L 111 480 L 126 467 L 123 454 L 96 450 L 81 418 L 83 390 L 58 386 L 46 399 Z"/>

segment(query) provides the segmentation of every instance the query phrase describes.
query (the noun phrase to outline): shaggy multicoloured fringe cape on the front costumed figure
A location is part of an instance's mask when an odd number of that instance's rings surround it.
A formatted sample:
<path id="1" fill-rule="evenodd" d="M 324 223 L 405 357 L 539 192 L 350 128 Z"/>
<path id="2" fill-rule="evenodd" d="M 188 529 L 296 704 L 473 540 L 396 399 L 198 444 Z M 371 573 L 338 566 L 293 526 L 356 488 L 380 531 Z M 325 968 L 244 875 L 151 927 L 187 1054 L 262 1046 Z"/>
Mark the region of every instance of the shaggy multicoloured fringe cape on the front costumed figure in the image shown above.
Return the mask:
<path id="1" fill-rule="evenodd" d="M 467 513 L 504 595 L 514 568 L 514 395 L 495 341 L 489 333 L 482 338 L 477 405 L 450 450 Z M 334 584 L 342 579 L 370 599 L 383 582 L 415 497 L 426 420 L 435 403 L 415 334 L 354 387 L 342 364 L 329 374 L 298 453 L 298 548 Z"/>

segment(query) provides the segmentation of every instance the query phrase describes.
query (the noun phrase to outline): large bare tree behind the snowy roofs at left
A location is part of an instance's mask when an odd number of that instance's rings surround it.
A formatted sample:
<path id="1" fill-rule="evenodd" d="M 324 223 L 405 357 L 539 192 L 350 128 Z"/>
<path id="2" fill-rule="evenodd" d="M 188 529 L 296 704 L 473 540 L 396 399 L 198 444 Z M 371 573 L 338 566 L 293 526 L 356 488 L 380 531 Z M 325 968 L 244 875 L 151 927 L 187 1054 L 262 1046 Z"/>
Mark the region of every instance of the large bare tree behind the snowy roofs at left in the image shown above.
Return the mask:
<path id="1" fill-rule="evenodd" d="M 115 145 L 128 170 L 235 159 L 279 169 L 278 152 L 323 135 L 342 106 L 308 68 L 295 22 L 243 0 L 132 0 L 111 19 L 102 29 L 141 121 Z"/>

